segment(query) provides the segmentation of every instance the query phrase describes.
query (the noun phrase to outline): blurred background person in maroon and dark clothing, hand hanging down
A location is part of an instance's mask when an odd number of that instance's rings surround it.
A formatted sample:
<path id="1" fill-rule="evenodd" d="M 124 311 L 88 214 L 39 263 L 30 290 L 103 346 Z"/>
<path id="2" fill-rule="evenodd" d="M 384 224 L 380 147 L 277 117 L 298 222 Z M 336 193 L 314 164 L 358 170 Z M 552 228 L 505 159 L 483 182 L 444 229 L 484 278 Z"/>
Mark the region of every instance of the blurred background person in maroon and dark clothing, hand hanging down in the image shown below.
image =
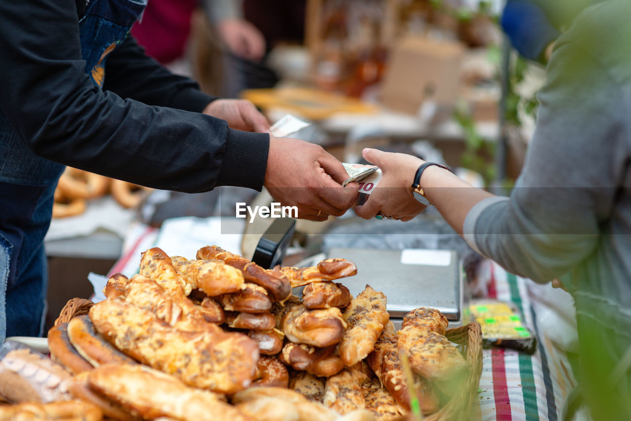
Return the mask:
<path id="1" fill-rule="evenodd" d="M 305 0 L 152 0 L 132 34 L 148 56 L 191 75 L 187 57 L 191 18 L 196 9 L 203 9 L 223 47 L 223 81 L 211 90 L 237 98 L 244 89 L 272 88 L 278 83 L 278 74 L 268 66 L 269 52 L 279 44 L 303 44 L 305 4 Z"/>

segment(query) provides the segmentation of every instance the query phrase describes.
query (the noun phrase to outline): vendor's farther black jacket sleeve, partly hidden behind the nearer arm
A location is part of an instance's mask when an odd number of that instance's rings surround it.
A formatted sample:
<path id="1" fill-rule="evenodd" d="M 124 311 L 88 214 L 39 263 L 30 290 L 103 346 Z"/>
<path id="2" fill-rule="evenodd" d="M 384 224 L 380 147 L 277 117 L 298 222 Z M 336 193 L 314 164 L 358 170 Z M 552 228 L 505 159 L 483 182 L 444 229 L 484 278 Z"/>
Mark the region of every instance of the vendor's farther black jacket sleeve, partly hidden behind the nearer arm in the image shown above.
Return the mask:
<path id="1" fill-rule="evenodd" d="M 144 54 L 131 35 L 107 56 L 103 90 L 148 105 L 194 112 L 216 99 L 201 92 L 195 81 L 171 73 Z"/>

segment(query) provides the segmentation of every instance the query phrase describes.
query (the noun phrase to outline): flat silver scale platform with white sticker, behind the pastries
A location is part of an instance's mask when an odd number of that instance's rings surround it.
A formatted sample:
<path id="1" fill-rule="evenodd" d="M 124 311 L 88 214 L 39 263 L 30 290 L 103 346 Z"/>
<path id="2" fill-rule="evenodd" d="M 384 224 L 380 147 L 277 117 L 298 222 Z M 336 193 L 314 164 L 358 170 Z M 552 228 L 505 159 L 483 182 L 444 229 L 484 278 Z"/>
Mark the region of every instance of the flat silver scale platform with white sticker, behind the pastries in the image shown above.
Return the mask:
<path id="1" fill-rule="evenodd" d="M 338 280 L 353 296 L 366 285 L 383 292 L 396 328 L 408 312 L 432 307 L 449 320 L 449 328 L 463 325 L 463 271 L 455 251 L 375 250 L 333 248 L 327 256 L 357 264 L 357 275 Z"/>

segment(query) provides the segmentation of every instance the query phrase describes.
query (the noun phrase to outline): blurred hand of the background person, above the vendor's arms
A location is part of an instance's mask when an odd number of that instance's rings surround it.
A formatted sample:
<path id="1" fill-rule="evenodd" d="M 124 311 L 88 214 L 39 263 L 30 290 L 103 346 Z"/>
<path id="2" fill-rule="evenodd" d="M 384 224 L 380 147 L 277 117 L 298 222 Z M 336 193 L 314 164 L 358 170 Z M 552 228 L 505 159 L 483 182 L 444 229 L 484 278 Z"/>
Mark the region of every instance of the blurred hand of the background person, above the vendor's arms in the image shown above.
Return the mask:
<path id="1" fill-rule="evenodd" d="M 259 61 L 265 54 L 265 39 L 252 23 L 244 19 L 227 19 L 217 25 L 217 32 L 235 56 Z"/>

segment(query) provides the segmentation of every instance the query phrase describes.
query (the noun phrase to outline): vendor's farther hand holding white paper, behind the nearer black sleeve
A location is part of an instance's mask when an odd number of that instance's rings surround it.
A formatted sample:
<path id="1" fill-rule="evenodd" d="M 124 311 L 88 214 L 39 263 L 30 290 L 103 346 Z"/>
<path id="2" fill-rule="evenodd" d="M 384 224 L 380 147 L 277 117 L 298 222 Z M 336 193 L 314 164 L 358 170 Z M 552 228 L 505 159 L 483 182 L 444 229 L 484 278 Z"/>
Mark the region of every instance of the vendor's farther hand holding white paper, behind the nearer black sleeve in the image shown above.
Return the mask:
<path id="1" fill-rule="evenodd" d="M 227 121 L 231 129 L 269 132 L 268 119 L 248 100 L 216 99 L 206 105 L 203 113 Z"/>

